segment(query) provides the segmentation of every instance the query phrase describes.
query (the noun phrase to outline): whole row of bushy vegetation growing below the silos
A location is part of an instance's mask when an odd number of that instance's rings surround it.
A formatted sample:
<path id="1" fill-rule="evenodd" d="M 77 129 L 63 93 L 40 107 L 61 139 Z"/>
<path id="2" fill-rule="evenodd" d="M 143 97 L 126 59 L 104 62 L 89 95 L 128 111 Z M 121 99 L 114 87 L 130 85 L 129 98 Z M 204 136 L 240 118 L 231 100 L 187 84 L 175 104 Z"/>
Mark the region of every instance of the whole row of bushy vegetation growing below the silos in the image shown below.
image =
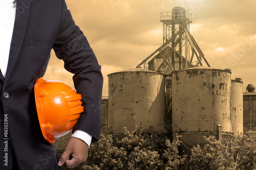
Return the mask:
<path id="1" fill-rule="evenodd" d="M 179 149 L 180 136 L 172 142 L 162 132 L 124 132 L 122 139 L 101 135 L 90 146 L 87 161 L 76 169 L 256 169 L 255 131 L 222 141 L 205 137 L 205 147 L 194 147 L 189 159 Z"/>

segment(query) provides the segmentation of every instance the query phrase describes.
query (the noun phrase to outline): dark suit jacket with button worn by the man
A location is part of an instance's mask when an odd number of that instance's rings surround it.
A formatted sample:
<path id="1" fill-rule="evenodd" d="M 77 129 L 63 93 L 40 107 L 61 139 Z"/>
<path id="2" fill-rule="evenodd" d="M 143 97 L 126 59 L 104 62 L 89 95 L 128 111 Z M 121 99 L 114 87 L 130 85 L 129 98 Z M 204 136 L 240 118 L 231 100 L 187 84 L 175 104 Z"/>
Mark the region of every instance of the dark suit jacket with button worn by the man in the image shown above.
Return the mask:
<path id="1" fill-rule="evenodd" d="M 85 111 L 74 129 L 91 134 L 92 142 L 99 140 L 103 81 L 100 65 L 86 37 L 75 26 L 65 1 L 17 0 L 6 78 L 0 77 L 9 147 L 12 143 L 21 169 L 58 169 L 53 146 L 40 131 L 33 89 L 35 81 L 45 74 L 52 48 L 74 74 L 75 88 L 82 95 Z M 3 142 L 3 132 L 0 133 Z M 1 159 L 0 167 L 2 162 Z"/>

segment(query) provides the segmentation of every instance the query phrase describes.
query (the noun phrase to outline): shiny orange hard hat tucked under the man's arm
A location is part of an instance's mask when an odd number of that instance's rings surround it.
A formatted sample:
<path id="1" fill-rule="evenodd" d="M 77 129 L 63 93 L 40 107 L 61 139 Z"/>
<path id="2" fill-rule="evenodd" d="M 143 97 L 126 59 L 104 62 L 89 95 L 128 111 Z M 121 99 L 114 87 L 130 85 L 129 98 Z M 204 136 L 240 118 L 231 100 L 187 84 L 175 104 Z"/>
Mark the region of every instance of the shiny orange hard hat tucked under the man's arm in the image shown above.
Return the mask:
<path id="1" fill-rule="evenodd" d="M 81 94 L 57 80 L 36 80 L 36 110 L 42 135 L 49 143 L 69 133 L 83 112 Z"/>

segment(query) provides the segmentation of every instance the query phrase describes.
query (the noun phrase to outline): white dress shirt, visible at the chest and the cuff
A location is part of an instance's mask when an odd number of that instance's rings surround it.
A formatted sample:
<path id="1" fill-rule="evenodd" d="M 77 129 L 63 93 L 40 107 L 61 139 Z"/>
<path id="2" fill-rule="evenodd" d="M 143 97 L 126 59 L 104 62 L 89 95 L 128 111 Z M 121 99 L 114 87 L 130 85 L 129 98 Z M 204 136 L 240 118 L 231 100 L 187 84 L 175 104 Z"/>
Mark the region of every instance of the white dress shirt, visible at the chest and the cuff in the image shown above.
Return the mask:
<path id="1" fill-rule="evenodd" d="M 9 60 L 12 32 L 16 14 L 16 1 L 0 0 L 0 69 L 3 76 L 6 76 L 6 70 Z M 75 130 L 71 137 L 76 137 L 88 144 L 92 141 L 92 136 L 82 130 Z"/>

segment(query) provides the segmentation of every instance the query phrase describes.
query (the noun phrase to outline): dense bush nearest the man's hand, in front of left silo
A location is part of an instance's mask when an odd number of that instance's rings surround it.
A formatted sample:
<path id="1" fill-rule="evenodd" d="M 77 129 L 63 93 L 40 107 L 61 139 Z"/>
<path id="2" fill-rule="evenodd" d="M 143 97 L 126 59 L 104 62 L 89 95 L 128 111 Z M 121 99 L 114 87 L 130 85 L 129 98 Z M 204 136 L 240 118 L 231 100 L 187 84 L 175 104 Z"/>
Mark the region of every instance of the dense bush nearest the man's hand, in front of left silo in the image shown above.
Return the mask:
<path id="1" fill-rule="evenodd" d="M 101 135 L 92 144 L 84 169 L 173 169 L 182 165 L 186 155 L 178 154 L 179 136 L 173 141 L 164 132 L 129 132 L 122 139 Z"/>

